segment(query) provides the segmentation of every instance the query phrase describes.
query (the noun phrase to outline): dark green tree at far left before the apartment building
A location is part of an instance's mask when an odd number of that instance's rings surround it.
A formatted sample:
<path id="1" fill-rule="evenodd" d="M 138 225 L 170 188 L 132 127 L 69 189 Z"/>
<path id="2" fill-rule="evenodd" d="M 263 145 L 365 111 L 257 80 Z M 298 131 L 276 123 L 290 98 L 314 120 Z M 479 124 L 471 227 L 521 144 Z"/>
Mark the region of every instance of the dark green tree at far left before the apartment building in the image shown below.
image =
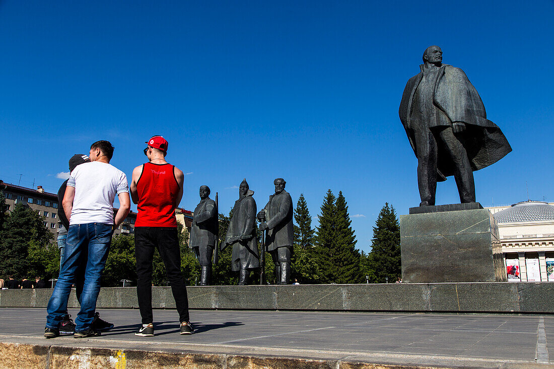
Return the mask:
<path id="1" fill-rule="evenodd" d="M 26 204 L 18 203 L 4 219 L 0 230 L 0 275 L 18 278 L 32 273 L 29 247 L 47 248 L 54 234 L 44 226 L 44 218 Z"/>

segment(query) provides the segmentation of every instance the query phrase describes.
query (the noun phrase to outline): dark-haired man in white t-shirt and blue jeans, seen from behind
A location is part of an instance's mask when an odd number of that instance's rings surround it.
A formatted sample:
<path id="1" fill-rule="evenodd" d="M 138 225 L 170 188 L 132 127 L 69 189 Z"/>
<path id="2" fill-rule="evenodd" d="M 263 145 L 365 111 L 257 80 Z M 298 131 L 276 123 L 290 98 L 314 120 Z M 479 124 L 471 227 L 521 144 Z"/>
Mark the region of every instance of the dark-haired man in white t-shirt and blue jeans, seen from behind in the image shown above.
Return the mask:
<path id="1" fill-rule="evenodd" d="M 110 165 L 114 147 L 109 141 L 97 141 L 90 146 L 90 163 L 71 172 L 63 200 L 69 219 L 65 257 L 58 282 L 48 302 L 48 317 L 44 337 L 59 336 L 59 325 L 67 310 L 71 285 L 80 265 L 85 265 L 85 283 L 81 293 L 81 310 L 75 319 L 75 338 L 99 336 L 92 329 L 96 300 L 100 292 L 100 277 L 106 265 L 114 229 L 124 221 L 131 200 L 125 173 Z M 120 207 L 114 219 L 114 199 Z"/>

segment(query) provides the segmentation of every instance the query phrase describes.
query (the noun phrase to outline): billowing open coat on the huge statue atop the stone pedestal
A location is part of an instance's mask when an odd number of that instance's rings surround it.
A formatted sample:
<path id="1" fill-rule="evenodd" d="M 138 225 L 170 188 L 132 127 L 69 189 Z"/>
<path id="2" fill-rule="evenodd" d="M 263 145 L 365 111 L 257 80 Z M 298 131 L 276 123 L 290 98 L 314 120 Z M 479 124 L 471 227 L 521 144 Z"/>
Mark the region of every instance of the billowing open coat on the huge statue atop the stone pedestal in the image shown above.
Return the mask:
<path id="1" fill-rule="evenodd" d="M 428 129 L 425 127 L 425 122 L 416 121 L 411 115 L 414 93 L 423 78 L 423 68 L 424 65 L 420 65 L 420 73 L 408 80 L 398 110 L 416 156 L 417 142 L 414 131 Z M 433 104 L 437 113 L 445 114 L 451 123 L 465 123 L 466 130 L 461 137 L 472 170 L 485 168 L 512 151 L 500 128 L 486 119 L 483 101 L 463 70 L 447 64 L 440 67 L 435 81 Z M 439 147 L 437 166 L 437 180 L 444 181 L 445 177 L 454 175 L 454 163 L 441 147 Z"/>

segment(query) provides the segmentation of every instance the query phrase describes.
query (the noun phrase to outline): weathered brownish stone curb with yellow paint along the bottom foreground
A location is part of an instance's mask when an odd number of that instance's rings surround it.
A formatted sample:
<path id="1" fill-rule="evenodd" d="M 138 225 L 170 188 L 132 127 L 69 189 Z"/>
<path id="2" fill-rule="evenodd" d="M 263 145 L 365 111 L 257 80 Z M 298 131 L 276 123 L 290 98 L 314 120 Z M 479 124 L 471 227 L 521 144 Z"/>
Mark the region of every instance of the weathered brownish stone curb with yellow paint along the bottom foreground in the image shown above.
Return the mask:
<path id="1" fill-rule="evenodd" d="M 92 343 L 92 342 L 91 342 Z M 0 369 L 29 368 L 29 369 L 455 369 L 455 368 L 504 368 L 504 369 L 550 369 L 553 365 L 541 365 L 529 362 L 510 362 L 497 360 L 467 360 L 463 358 L 443 357 L 425 361 L 435 362 L 432 365 L 411 364 L 417 362 L 418 356 L 403 358 L 391 356 L 381 357 L 379 360 L 368 360 L 368 357 L 356 358 L 355 353 L 343 353 L 341 356 L 350 359 L 325 357 L 326 351 L 322 351 L 322 358 L 289 357 L 281 355 L 236 355 L 232 353 L 202 353 L 186 352 L 173 349 L 171 351 L 160 350 L 134 350 L 134 349 L 109 349 L 101 347 L 80 347 L 62 345 L 23 344 L 17 342 L 0 342 Z M 349 355 L 350 354 L 350 355 Z M 364 360 L 365 359 L 365 360 Z M 403 360 L 406 364 L 393 363 Z M 440 361 L 450 362 L 441 364 Z M 391 363 L 387 363 L 391 362 Z"/>

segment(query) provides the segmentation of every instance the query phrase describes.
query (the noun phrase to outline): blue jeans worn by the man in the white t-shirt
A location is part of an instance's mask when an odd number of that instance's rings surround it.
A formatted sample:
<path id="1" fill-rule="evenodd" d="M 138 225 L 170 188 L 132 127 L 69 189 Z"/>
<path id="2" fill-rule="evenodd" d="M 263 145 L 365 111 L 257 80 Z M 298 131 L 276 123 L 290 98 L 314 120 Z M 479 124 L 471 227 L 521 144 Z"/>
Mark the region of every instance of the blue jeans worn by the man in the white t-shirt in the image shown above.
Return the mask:
<path id="1" fill-rule="evenodd" d="M 77 285 L 78 275 L 85 281 L 81 293 L 81 310 L 75 319 L 75 331 L 87 330 L 94 320 L 96 300 L 100 292 L 100 277 L 106 265 L 112 235 L 111 224 L 86 223 L 69 226 L 60 275 L 50 301 L 46 326 L 57 329 L 66 314 L 71 285 Z"/>

